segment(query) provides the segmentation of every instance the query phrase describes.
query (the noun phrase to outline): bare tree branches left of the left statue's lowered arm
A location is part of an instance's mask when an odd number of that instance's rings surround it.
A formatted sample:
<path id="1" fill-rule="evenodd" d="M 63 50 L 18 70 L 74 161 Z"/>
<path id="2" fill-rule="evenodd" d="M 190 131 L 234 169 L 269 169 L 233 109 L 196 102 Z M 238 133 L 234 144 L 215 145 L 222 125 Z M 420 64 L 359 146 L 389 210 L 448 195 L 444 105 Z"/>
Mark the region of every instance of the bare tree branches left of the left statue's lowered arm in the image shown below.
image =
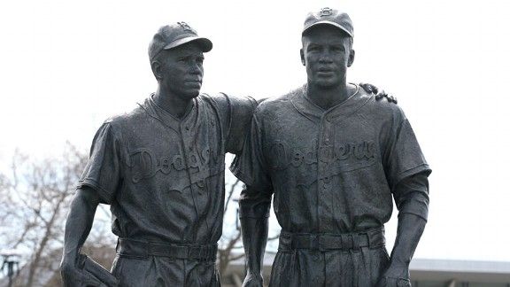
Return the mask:
<path id="1" fill-rule="evenodd" d="M 41 285 L 58 270 L 66 213 L 86 161 L 70 143 L 61 156 L 47 159 L 16 151 L 11 175 L 0 175 L 0 247 L 26 254 L 18 280 L 23 286 Z"/>

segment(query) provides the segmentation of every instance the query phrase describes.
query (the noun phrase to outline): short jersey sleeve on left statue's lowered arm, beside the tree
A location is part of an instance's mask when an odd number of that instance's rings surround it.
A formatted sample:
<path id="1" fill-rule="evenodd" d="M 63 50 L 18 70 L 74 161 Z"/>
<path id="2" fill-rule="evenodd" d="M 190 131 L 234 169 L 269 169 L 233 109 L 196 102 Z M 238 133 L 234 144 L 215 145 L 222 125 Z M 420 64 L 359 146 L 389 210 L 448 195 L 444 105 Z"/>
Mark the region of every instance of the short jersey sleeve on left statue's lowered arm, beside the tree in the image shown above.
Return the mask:
<path id="1" fill-rule="evenodd" d="M 97 130 L 87 166 L 78 188 L 95 190 L 101 203 L 111 204 L 120 182 L 120 141 L 113 133 L 111 123 L 105 122 Z"/>

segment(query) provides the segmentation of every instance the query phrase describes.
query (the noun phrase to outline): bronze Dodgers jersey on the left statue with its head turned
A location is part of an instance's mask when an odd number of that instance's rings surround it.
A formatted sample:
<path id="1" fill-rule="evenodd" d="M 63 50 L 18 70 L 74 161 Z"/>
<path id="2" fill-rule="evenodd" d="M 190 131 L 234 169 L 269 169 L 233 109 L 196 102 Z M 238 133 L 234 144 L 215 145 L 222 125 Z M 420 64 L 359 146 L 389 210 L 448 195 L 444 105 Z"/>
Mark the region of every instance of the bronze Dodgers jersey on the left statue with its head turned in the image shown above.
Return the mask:
<path id="1" fill-rule="evenodd" d="M 225 152 L 241 150 L 256 105 L 249 97 L 202 94 L 176 119 L 149 97 L 99 128 L 78 187 L 111 205 L 119 237 L 216 243 Z"/>

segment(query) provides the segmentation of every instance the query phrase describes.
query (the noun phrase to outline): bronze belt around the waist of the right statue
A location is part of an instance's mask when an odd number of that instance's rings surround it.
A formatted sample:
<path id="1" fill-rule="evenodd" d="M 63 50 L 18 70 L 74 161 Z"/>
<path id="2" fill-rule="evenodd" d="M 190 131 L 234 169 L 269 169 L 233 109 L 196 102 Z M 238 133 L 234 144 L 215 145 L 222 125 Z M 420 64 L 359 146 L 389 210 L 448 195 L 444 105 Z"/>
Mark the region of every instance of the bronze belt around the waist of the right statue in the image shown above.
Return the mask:
<path id="1" fill-rule="evenodd" d="M 384 246 L 384 228 L 371 229 L 356 233 L 280 233 L 278 250 L 311 249 L 321 252 L 329 250 L 358 250 L 361 247 L 376 248 Z"/>

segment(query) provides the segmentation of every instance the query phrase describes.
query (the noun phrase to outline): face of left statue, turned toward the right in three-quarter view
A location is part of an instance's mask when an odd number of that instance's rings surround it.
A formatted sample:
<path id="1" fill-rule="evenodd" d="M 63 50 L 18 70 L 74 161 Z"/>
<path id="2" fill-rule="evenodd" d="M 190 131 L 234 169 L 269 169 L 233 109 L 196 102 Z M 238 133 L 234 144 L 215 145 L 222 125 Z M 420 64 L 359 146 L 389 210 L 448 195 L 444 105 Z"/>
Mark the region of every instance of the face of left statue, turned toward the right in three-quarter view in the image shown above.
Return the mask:
<path id="1" fill-rule="evenodd" d="M 171 50 L 163 50 L 153 72 L 161 85 L 177 97 L 197 97 L 204 77 L 204 53 L 197 43 L 186 43 Z"/>

